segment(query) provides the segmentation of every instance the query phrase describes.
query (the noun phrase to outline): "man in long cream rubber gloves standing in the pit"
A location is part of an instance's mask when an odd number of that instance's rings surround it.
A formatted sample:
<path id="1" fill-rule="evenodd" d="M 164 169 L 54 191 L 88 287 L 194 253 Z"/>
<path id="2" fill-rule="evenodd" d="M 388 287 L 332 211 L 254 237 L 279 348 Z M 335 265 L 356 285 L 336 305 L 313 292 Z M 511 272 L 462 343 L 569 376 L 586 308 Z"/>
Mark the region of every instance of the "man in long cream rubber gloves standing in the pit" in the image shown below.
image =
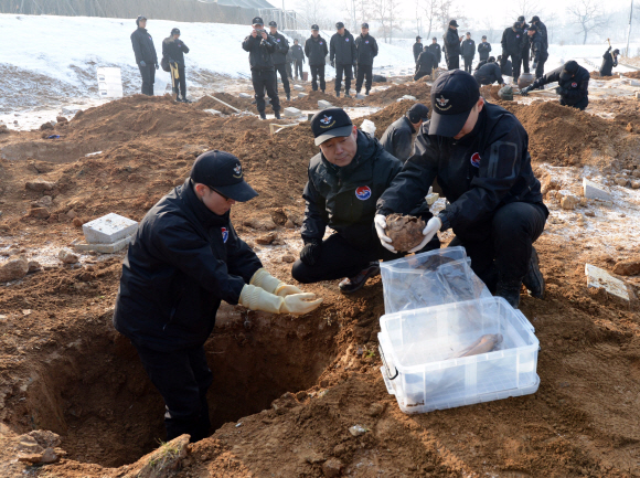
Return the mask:
<path id="1" fill-rule="evenodd" d="M 201 155 L 184 184 L 140 222 L 122 263 L 114 326 L 131 340 L 164 399 L 167 440 L 209 435 L 213 375 L 203 346 L 222 300 L 295 315 L 322 301 L 269 275 L 235 233 L 232 205 L 256 195 L 235 156 Z"/>

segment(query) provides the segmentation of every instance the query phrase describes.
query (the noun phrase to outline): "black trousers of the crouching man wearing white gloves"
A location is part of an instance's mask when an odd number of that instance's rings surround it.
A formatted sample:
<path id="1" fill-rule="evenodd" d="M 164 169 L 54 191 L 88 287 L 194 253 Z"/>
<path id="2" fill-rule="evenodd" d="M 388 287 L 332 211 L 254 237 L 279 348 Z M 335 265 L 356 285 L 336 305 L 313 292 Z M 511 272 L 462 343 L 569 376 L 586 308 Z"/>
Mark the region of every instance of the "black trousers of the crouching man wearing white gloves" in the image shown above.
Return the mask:
<path id="1" fill-rule="evenodd" d="M 512 202 L 467 237 L 456 235 L 449 247 L 465 247 L 471 268 L 493 293 L 499 278 L 522 280 L 529 270 L 532 244 L 544 231 L 547 216 L 544 204 Z"/>

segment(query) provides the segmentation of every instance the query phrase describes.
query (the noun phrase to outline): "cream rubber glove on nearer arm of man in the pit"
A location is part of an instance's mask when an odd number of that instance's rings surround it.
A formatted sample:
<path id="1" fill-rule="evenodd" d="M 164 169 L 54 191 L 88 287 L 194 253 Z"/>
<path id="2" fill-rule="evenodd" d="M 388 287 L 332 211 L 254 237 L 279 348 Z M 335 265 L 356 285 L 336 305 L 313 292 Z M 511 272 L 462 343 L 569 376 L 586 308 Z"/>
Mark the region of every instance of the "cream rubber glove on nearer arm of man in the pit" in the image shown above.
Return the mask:
<path id="1" fill-rule="evenodd" d="M 263 310 L 271 314 L 292 314 L 296 316 L 309 314 L 322 304 L 314 294 L 294 294 L 278 297 L 260 287 L 247 284 L 243 287 L 238 304 L 252 310 Z"/>

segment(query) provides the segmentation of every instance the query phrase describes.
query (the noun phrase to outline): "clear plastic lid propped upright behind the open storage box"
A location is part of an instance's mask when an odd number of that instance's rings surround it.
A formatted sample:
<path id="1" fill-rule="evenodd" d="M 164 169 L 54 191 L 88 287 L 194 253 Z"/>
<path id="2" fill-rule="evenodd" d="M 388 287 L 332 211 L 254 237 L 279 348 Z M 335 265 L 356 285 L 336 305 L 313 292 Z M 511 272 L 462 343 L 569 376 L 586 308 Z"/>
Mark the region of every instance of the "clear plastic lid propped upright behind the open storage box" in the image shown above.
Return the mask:
<path id="1" fill-rule="evenodd" d="M 380 264 L 386 314 L 491 297 L 465 247 L 445 247 Z"/>

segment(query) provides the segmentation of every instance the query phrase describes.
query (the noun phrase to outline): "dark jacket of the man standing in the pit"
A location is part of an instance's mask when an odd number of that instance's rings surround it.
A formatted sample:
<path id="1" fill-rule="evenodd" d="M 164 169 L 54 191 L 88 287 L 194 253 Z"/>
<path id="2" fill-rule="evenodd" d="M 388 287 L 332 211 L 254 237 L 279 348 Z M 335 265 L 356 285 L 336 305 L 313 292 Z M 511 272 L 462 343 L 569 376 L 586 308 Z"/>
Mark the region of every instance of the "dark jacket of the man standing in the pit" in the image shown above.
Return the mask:
<path id="1" fill-rule="evenodd" d="M 230 215 L 211 212 L 188 179 L 138 226 L 122 263 L 114 326 L 134 342 L 171 352 L 202 346 L 221 300 L 235 305 L 262 267 Z"/>

